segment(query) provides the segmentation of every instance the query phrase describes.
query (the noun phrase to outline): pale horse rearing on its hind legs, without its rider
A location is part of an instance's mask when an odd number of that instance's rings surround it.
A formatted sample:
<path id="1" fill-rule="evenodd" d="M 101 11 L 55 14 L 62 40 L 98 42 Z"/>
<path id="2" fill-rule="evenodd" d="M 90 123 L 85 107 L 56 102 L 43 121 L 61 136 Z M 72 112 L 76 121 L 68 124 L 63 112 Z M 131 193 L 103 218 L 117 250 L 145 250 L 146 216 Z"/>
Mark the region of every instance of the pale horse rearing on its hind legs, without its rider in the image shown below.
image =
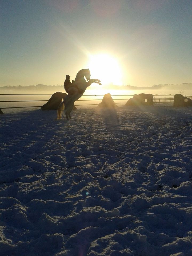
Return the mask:
<path id="1" fill-rule="evenodd" d="M 99 79 L 90 79 L 89 69 L 81 69 L 75 78 L 74 83 L 69 88 L 69 94 L 65 97 L 64 101 L 60 103 L 57 109 L 57 119 L 61 119 L 62 111 L 64 110 L 66 119 L 71 119 L 71 111 L 74 107 L 74 102 L 77 101 L 85 92 L 88 86 L 92 83 L 101 85 Z M 86 80 L 85 80 L 85 78 Z"/>

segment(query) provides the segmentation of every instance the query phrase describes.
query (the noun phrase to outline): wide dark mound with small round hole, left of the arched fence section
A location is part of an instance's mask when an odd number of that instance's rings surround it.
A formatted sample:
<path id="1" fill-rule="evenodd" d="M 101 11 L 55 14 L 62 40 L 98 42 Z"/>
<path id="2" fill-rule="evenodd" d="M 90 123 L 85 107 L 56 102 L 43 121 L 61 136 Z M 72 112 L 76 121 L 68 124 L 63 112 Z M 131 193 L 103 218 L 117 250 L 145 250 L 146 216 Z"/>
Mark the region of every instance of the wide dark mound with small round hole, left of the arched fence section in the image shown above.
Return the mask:
<path id="1" fill-rule="evenodd" d="M 152 94 L 146 94 L 146 93 L 140 93 L 135 94 L 133 98 L 129 99 L 125 106 L 138 106 L 138 105 L 146 105 L 146 106 L 152 106 L 153 105 L 153 95 Z"/>

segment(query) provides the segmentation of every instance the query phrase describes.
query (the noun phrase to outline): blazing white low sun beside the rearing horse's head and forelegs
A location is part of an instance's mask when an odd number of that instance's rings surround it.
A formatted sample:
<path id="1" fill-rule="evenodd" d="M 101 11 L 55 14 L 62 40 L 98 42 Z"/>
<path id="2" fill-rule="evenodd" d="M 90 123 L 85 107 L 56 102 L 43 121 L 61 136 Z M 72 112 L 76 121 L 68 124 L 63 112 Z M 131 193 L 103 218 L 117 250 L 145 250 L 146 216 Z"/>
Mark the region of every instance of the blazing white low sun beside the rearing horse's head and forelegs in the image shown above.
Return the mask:
<path id="1" fill-rule="evenodd" d="M 102 85 L 122 85 L 122 71 L 116 58 L 105 53 L 90 55 L 88 67 L 91 77 L 101 80 Z"/>

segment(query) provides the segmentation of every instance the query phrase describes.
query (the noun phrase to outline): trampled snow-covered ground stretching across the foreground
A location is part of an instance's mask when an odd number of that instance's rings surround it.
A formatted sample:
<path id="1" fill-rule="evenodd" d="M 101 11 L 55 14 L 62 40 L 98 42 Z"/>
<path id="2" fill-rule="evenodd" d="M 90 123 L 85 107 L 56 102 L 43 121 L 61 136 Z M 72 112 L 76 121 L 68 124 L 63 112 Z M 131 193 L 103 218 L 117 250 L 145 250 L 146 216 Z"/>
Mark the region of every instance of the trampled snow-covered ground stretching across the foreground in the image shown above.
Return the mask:
<path id="1" fill-rule="evenodd" d="M 0 116 L 1 256 L 191 256 L 192 107 Z"/>

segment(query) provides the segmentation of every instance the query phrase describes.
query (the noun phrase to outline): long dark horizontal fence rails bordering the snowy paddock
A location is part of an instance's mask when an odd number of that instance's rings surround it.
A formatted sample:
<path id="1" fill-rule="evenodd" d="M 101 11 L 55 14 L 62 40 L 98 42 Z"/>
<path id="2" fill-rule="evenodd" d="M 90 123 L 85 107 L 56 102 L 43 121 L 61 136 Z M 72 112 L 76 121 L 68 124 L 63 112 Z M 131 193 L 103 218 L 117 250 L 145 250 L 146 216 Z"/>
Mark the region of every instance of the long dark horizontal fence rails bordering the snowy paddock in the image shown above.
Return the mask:
<path id="1" fill-rule="evenodd" d="M 52 96 L 52 94 L 0 94 L 2 96 Z M 104 96 L 104 95 L 82 95 L 82 97 L 97 97 L 97 96 Z M 134 95 L 111 95 L 115 97 L 126 97 L 123 99 L 113 99 L 113 101 L 128 101 L 131 97 Z M 192 95 L 186 96 L 190 99 L 192 99 Z M 48 100 L 14 100 L 14 101 L 0 101 L 0 102 L 38 102 L 38 101 L 49 101 Z M 78 101 L 102 101 L 102 99 L 79 99 Z M 76 101 L 76 102 L 78 102 Z M 172 94 L 155 94 L 153 95 L 153 103 L 154 104 L 173 104 L 174 101 L 174 95 Z M 99 103 L 100 103 L 99 102 Z M 92 104 L 75 104 L 75 106 L 90 106 L 90 105 L 99 105 L 99 103 L 92 103 Z M 115 102 L 115 104 L 125 104 L 126 102 Z M 20 106 L 20 107 L 0 107 L 0 109 L 17 109 L 17 108 L 29 108 L 29 107 L 42 107 L 42 106 Z"/>

